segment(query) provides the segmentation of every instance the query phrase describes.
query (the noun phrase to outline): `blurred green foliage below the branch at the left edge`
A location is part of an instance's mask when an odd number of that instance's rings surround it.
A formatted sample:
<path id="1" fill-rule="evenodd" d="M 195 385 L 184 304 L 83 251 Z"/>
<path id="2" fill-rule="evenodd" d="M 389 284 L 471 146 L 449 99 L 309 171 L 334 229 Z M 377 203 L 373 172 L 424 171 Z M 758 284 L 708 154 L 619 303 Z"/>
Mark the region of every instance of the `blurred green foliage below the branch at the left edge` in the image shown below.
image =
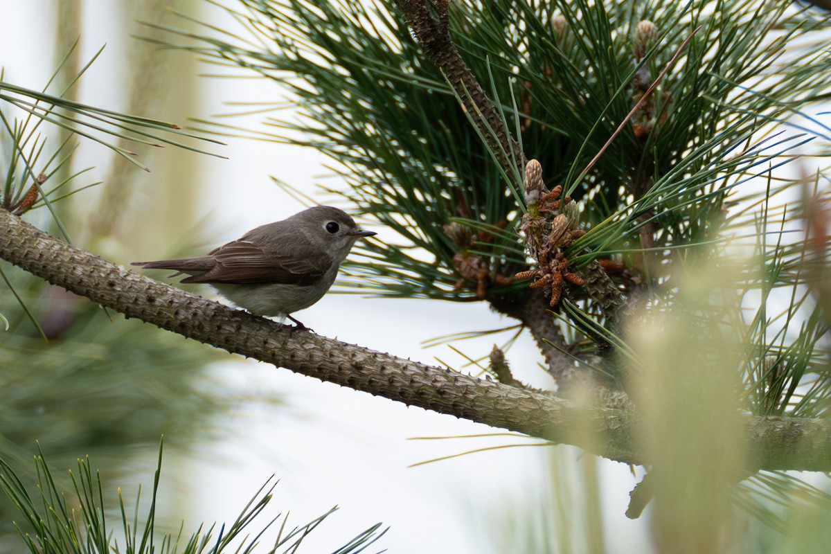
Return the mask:
<path id="1" fill-rule="evenodd" d="M 12 298 L 0 297 L 9 320 L 8 332 L 0 335 L 6 441 L 29 451 L 37 439 L 72 458 L 77 449 L 116 453 L 130 444 L 152 444 L 162 433 L 178 444 L 204 432 L 206 419 L 232 402 L 199 384 L 202 367 L 217 359 L 209 346 L 108 316 L 16 268 L 5 273 L 23 283 L 17 294 L 47 337 Z"/>

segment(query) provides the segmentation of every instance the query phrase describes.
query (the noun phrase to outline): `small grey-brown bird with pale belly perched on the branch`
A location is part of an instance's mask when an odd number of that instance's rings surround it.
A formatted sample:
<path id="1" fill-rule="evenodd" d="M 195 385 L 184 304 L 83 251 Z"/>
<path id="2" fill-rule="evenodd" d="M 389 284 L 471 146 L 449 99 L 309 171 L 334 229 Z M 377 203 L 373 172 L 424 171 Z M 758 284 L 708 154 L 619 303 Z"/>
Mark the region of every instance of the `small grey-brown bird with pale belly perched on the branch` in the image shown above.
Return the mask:
<path id="1" fill-rule="evenodd" d="M 286 317 L 312 306 L 332 287 L 337 269 L 364 231 L 347 213 L 315 206 L 276 223 L 255 228 L 201 257 L 134 262 L 145 269 L 187 273 L 182 282 L 205 282 L 258 316 Z"/>

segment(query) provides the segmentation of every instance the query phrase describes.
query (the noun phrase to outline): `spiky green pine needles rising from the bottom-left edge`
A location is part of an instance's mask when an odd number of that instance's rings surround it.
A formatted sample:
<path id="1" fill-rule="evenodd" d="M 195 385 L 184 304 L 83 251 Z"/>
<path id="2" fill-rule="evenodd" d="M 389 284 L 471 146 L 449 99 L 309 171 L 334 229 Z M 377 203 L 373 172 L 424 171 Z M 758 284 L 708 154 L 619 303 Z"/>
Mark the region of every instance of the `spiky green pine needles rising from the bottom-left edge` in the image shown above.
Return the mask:
<path id="1" fill-rule="evenodd" d="M 273 554 L 278 549 L 282 552 L 296 552 L 301 542 L 313 532 L 327 517 L 337 510 L 332 508 L 311 522 L 294 527 L 286 531 L 288 513 L 283 516 L 283 522 L 273 546 L 263 550 L 260 542 L 263 533 L 277 522 L 280 517 L 260 524 L 261 528 L 253 535 L 248 529 L 262 519 L 262 514 L 273 499 L 273 491 L 277 483 L 265 483 L 248 504 L 243 507 L 238 517 L 229 525 L 219 528 L 212 525 L 204 529 L 204 524 L 184 542 L 182 531 L 178 536 L 165 533 L 157 536 L 156 505 L 159 500 L 159 481 L 161 474 L 162 446 L 159 448 L 159 458 L 156 465 L 153 481 L 153 492 L 150 506 L 146 515 L 140 516 L 140 488 L 131 510 L 130 502 L 125 500 L 120 489 L 118 493 L 120 506 L 120 536 L 123 543 L 108 531 L 108 520 L 111 518 L 107 511 L 104 499 L 104 486 L 101 475 L 93 472 L 89 457 L 78 459 L 77 472 L 70 471 L 71 488 L 66 488 L 62 482 L 52 476 L 52 471 L 38 446 L 38 455 L 35 456 L 37 473 L 37 493 L 30 493 L 29 487 L 17 477 L 17 473 L 9 463 L 0 458 L 0 488 L 6 493 L 17 509 L 20 523 L 16 523 L 23 542 L 32 554 L 47 552 L 61 552 L 61 554 L 220 554 L 221 552 L 238 552 L 253 554 L 253 552 L 268 552 Z M 132 512 L 128 516 L 128 511 Z M 380 531 L 380 532 L 379 532 Z M 353 537 L 342 547 L 333 552 L 349 554 L 361 552 L 381 538 L 386 529 L 381 530 L 381 523 L 377 523 Z M 159 541 L 160 542 L 157 542 Z"/>

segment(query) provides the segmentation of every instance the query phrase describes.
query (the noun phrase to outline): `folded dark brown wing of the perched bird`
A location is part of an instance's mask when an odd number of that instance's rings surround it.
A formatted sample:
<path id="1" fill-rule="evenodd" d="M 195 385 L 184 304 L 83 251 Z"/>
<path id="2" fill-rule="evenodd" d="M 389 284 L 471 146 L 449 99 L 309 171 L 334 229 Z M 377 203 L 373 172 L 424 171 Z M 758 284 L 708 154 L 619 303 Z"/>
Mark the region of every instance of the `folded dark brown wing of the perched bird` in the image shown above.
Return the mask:
<path id="1" fill-rule="evenodd" d="M 193 258 L 208 258 L 214 264 L 207 271 L 187 277 L 182 282 L 313 285 L 332 266 L 332 258 L 326 255 L 308 256 L 299 246 L 289 242 L 279 248 L 269 248 L 267 252 L 257 244 L 236 240 L 214 249 L 207 256 Z"/>

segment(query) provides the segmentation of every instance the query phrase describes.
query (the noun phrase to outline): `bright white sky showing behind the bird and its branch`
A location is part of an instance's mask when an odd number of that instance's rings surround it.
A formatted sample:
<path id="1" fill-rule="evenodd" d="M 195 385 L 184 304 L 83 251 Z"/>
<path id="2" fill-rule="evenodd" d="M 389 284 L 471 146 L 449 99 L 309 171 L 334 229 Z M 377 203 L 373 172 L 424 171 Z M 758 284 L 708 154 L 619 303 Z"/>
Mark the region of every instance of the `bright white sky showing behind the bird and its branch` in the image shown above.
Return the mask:
<path id="1" fill-rule="evenodd" d="M 79 100 L 118 110 L 123 107 L 124 95 L 118 78 L 121 52 L 126 41 L 134 39 L 123 36 L 122 27 L 107 24 L 110 7 L 107 0 L 84 2 L 81 59 L 86 61 L 104 43 L 107 47 L 83 78 Z M 8 81 L 40 88 L 52 73 L 52 12 L 52 2 L 46 0 L 0 0 L 0 48 L 4 53 L 0 63 L 6 68 Z M 185 117 L 207 118 L 227 112 L 224 101 L 273 100 L 270 83 L 205 79 L 199 86 L 205 95 L 201 104 L 183 114 L 179 123 Z M 313 185 L 320 182 L 315 175 L 327 174 L 322 166 L 326 159 L 313 151 L 252 140 L 227 142 L 229 146 L 219 151 L 229 159 L 199 157 L 202 169 L 198 178 L 204 181 L 206 192 L 196 213 L 199 219 L 211 220 L 209 232 L 215 233 L 212 244 L 237 238 L 249 228 L 302 208 L 273 185 L 269 175 L 312 192 Z M 81 152 L 89 148 L 83 145 Z M 106 175 L 107 161 L 92 163 L 101 167 L 100 176 Z M 331 180 L 327 184 L 334 185 Z M 369 228 L 383 240 L 383 228 Z M 434 356 L 438 356 L 458 365 L 459 356 L 446 346 L 425 350 L 421 342 L 504 324 L 485 303 L 356 295 L 329 295 L 298 317 L 323 336 L 426 363 L 435 363 Z M 465 341 L 459 346 L 478 356 L 489 351 L 493 341 Z M 544 384 L 539 380 L 542 371 L 532 369 L 538 358 L 538 350 L 527 336 L 509 351 L 509 361 L 520 378 Z M 507 522 L 514 514 L 519 519 L 536 514 L 539 521 L 535 499 L 540 488 L 544 491 L 546 487 L 550 449 L 499 449 L 407 468 L 411 463 L 469 449 L 531 441 L 499 437 L 411 441 L 407 439 L 500 430 L 407 408 L 236 356 L 214 365 L 210 372 L 224 385 L 224 394 L 239 395 L 243 400 L 230 414 L 232 429 L 197 449 L 199 454 L 183 457 L 175 451 L 166 452 L 163 479 L 167 475 L 171 482 L 175 479 L 188 486 L 187 490 L 166 489 L 162 483 L 163 493 L 178 495 L 175 500 L 168 498 L 174 507 L 171 512 L 186 509 L 185 532 L 192 532 L 202 521 L 230 522 L 272 474 L 281 482 L 268 511 L 270 517 L 290 510 L 290 521 L 299 524 L 336 504 L 341 507 L 312 533 L 301 552 L 331 551 L 375 522 L 383 522 L 391 530 L 367 552 L 382 547 L 389 552 L 506 552 L 499 544 L 511 544 L 511 538 L 494 541 L 509 530 Z M 284 395 L 288 406 L 265 407 L 248 400 L 275 393 Z M 43 447 L 48 451 L 48 445 Z M 568 460 L 579 456 L 577 449 L 559 451 L 561 458 Z M 146 459 L 146 463 L 155 463 L 155 454 Z M 601 490 L 606 495 L 604 515 L 610 529 L 608 552 L 647 552 L 643 522 L 630 522 L 623 515 L 627 493 L 636 480 L 622 464 L 602 461 L 600 467 Z M 150 484 L 148 476 L 145 486 Z M 160 502 L 164 508 L 165 497 Z M 260 523 L 268 518 L 263 517 Z"/>

